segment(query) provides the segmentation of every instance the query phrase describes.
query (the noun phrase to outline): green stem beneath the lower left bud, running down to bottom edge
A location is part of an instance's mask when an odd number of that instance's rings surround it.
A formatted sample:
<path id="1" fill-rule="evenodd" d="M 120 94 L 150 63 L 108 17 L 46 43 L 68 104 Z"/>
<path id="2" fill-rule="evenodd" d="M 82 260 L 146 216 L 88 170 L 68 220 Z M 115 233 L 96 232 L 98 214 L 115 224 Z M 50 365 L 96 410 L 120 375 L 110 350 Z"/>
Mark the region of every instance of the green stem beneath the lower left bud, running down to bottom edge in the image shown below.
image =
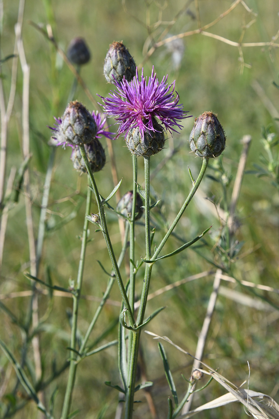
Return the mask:
<path id="1" fill-rule="evenodd" d="M 90 202 L 91 202 L 91 190 L 90 188 L 87 188 L 85 214 L 90 214 Z M 83 281 L 83 269 L 84 269 L 84 263 L 85 263 L 85 250 L 86 250 L 86 243 L 87 243 L 88 223 L 89 221 L 85 217 L 84 224 L 83 224 L 83 239 L 82 239 L 81 250 L 80 250 L 80 263 L 78 266 L 76 292 L 73 295 L 74 302 L 73 302 L 73 310 L 72 310 L 72 331 L 71 331 L 71 343 L 70 343 L 70 347 L 72 349 L 75 349 L 76 347 L 77 324 L 78 324 L 78 303 L 80 300 L 80 291 L 81 291 L 82 281 Z M 75 385 L 76 365 L 77 365 L 76 353 L 74 351 L 71 351 L 70 352 L 70 370 L 69 370 L 69 376 L 68 376 L 68 381 L 67 381 L 67 388 L 66 388 L 66 393 L 65 393 L 64 403 L 63 403 L 61 419 L 67 419 L 67 416 L 70 411 L 72 391 Z"/>

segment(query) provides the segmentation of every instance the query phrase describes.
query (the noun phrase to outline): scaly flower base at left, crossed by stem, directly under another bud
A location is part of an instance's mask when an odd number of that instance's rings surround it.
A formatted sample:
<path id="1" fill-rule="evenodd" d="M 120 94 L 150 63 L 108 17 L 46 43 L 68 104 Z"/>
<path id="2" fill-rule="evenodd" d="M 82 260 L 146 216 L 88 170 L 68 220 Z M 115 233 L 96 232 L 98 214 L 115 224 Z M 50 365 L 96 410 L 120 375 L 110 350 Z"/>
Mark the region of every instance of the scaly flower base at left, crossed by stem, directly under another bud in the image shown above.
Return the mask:
<path id="1" fill-rule="evenodd" d="M 103 149 L 101 142 L 98 138 L 94 138 L 89 144 L 84 145 L 84 149 L 93 173 L 100 171 L 106 163 L 105 150 Z M 71 160 L 76 170 L 83 173 L 87 172 L 79 147 L 73 148 Z"/>

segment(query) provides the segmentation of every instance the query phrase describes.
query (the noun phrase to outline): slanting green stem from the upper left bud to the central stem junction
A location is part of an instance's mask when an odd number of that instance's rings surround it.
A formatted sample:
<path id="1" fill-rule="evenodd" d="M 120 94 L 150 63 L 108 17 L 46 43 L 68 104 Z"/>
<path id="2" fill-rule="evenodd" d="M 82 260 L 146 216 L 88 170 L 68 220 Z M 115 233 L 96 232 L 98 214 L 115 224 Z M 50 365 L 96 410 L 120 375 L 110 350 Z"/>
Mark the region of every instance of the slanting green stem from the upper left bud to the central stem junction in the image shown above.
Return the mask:
<path id="1" fill-rule="evenodd" d="M 85 166 L 86 166 L 86 169 L 87 169 L 87 172 L 88 172 L 88 176 L 89 176 L 90 182 L 92 184 L 92 189 L 93 189 L 94 194 L 95 194 L 95 198 L 96 198 L 97 205 L 98 205 L 99 216 L 100 216 L 101 230 L 103 232 L 103 237 L 106 241 L 106 246 L 107 246 L 108 251 L 109 251 L 109 256 L 111 258 L 111 263 L 112 263 L 112 266 L 113 266 L 113 269 L 114 269 L 114 272 L 115 272 L 116 280 L 118 282 L 118 286 L 119 286 L 119 290 L 121 292 L 121 296 L 122 296 L 122 299 L 123 299 L 123 302 L 124 302 L 124 306 L 127 310 L 126 313 L 128 315 L 130 324 L 132 326 L 135 326 L 135 321 L 134 321 L 134 316 L 133 316 L 133 313 L 132 313 L 132 309 L 131 309 L 131 306 L 129 304 L 127 293 L 126 293 L 126 290 L 125 290 L 125 287 L 124 287 L 124 284 L 123 284 L 123 281 L 122 281 L 122 278 L 121 278 L 121 274 L 120 274 L 119 267 L 118 267 L 117 262 L 116 262 L 115 255 L 114 255 L 114 250 L 112 248 L 111 239 L 109 237 L 109 232 L 108 232 L 108 228 L 107 228 L 107 225 L 106 225 L 105 211 L 104 211 L 104 208 L 103 208 L 103 204 L 101 202 L 101 197 L 100 197 L 100 194 L 98 192 L 98 188 L 97 188 L 97 185 L 96 185 L 96 182 L 95 182 L 95 178 L 94 178 L 92 170 L 89 166 L 88 158 L 87 158 L 87 155 L 85 153 L 85 149 L 84 149 L 83 145 L 80 145 L 80 154 L 81 154 L 81 156 L 82 156 L 82 158 L 85 162 Z"/>

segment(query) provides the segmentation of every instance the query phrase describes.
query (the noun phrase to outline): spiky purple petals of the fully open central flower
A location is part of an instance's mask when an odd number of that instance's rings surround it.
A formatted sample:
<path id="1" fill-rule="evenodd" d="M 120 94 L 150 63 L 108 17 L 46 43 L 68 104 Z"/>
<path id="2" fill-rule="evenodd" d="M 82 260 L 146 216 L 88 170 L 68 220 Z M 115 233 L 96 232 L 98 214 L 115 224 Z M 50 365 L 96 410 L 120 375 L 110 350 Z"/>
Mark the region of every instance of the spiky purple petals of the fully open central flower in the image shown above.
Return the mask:
<path id="1" fill-rule="evenodd" d="M 179 96 L 176 92 L 174 95 L 175 81 L 168 85 L 168 76 L 161 83 L 156 78 L 154 67 L 152 74 L 147 82 L 147 78 L 143 77 L 139 81 L 138 72 L 131 82 L 127 82 L 125 77 L 118 83 L 115 81 L 117 90 L 111 91 L 111 97 L 103 98 L 104 111 L 109 116 L 114 116 L 119 122 L 117 137 L 129 129 L 138 127 L 142 138 L 144 131 L 147 129 L 156 131 L 152 124 L 152 117 L 157 118 L 169 132 L 176 131 L 174 127 L 182 129 L 182 125 L 178 124 L 183 118 L 188 118 L 183 105 L 178 105 Z M 177 132 L 177 131 L 176 131 Z"/>

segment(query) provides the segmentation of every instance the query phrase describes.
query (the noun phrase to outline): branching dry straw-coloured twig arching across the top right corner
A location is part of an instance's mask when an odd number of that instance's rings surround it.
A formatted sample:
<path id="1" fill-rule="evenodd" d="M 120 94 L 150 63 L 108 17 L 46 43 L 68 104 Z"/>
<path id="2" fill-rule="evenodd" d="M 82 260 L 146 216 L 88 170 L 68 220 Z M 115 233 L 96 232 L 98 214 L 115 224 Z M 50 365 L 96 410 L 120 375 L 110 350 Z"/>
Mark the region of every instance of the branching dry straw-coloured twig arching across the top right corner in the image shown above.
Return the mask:
<path id="1" fill-rule="evenodd" d="M 197 2 L 195 2 L 197 4 Z M 154 45 L 149 49 L 149 51 L 146 53 L 145 58 L 143 60 L 142 65 L 151 57 L 151 55 L 154 53 L 154 51 L 159 48 L 162 47 L 163 45 L 167 44 L 168 42 L 172 42 L 176 39 L 181 39 L 181 38 L 186 38 L 187 36 L 191 36 L 191 35 L 196 35 L 196 34 L 201 34 L 204 36 L 208 36 L 210 38 L 214 38 L 217 39 L 218 41 L 224 42 L 225 44 L 228 44 L 232 47 L 237 47 L 239 54 L 240 54 L 240 62 L 241 62 L 241 71 L 243 71 L 243 67 L 245 66 L 244 61 L 243 61 L 243 52 L 242 52 L 242 48 L 243 47 L 270 47 L 270 49 L 272 47 L 279 47 L 279 44 L 276 44 L 274 41 L 276 40 L 276 36 L 274 36 L 272 38 L 272 41 L 270 42 L 242 42 L 245 30 L 248 29 L 252 23 L 255 22 L 255 19 L 253 19 L 250 23 L 248 23 L 248 25 L 246 25 L 243 28 L 243 31 L 240 35 L 240 39 L 238 42 L 235 41 L 231 41 L 230 39 L 227 39 L 223 36 L 217 35 L 217 34 L 212 34 L 211 32 L 207 32 L 206 29 L 214 26 L 217 22 L 219 22 L 221 19 L 223 19 L 225 16 L 227 16 L 238 4 L 243 5 L 243 7 L 249 12 L 249 13 L 253 13 L 251 9 L 248 8 L 248 6 L 246 5 L 246 3 L 243 0 L 235 0 L 235 2 L 233 2 L 230 7 L 225 10 L 225 12 L 221 13 L 220 16 L 218 16 L 214 21 L 208 23 L 207 25 L 204 26 L 200 26 L 200 19 L 199 19 L 199 10 L 196 7 L 196 14 L 198 16 L 198 25 L 199 28 L 198 29 L 194 29 L 193 31 L 187 31 L 187 32 L 183 32 L 181 34 L 178 35 L 174 35 L 174 36 L 169 36 L 168 38 L 163 39 L 163 37 L 166 34 L 166 31 L 164 31 L 161 36 L 159 37 L 158 41 L 154 43 Z M 179 14 L 181 13 L 181 11 L 179 12 Z M 255 13 L 254 13 L 255 15 Z M 172 26 L 175 23 L 175 21 L 170 23 L 170 26 Z M 168 31 L 167 31 L 168 32 Z M 150 36 L 150 41 L 153 40 L 153 37 Z"/>

